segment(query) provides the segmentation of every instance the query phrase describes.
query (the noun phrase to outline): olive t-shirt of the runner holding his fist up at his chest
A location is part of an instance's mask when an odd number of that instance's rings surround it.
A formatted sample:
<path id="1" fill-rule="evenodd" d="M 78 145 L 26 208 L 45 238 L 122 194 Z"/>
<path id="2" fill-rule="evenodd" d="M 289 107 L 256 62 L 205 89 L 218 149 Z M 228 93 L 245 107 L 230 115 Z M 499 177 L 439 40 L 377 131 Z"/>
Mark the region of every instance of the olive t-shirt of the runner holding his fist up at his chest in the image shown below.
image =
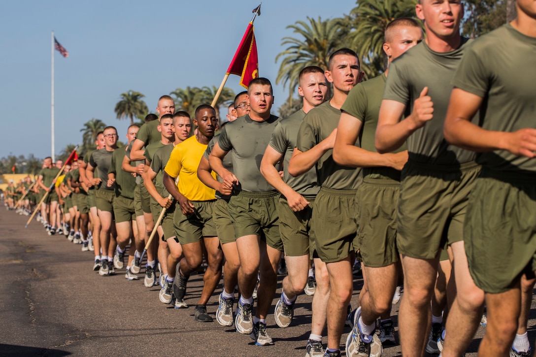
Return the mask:
<path id="1" fill-rule="evenodd" d="M 463 38 L 456 50 L 438 53 L 425 41 L 409 49 L 389 66 L 383 99 L 406 105 L 411 114 L 415 99 L 424 87 L 434 103 L 434 117 L 407 139 L 410 160 L 434 165 L 459 165 L 473 161 L 475 153 L 449 145 L 443 136 L 443 124 L 452 92 L 451 80 L 461 56 L 471 41 Z"/>

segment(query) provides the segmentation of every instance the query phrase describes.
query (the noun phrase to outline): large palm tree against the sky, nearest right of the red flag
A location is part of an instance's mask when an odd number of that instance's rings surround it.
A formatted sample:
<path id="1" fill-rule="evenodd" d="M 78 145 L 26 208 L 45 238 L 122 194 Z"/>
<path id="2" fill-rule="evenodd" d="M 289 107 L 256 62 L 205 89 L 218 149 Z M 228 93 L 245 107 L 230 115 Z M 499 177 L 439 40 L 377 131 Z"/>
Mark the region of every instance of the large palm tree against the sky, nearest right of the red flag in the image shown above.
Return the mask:
<path id="1" fill-rule="evenodd" d="M 340 47 L 346 47 L 341 46 L 341 39 L 347 33 L 341 19 L 323 21 L 320 17 L 317 20 L 308 17 L 307 20 L 309 23 L 296 21 L 294 25 L 287 26 L 299 34 L 299 38 L 282 38 L 281 46 L 288 47 L 276 57 L 276 63 L 282 58 L 276 84 L 288 84 L 289 101 L 299 84 L 298 77 L 304 67 L 315 65 L 325 70 L 330 54 Z"/>

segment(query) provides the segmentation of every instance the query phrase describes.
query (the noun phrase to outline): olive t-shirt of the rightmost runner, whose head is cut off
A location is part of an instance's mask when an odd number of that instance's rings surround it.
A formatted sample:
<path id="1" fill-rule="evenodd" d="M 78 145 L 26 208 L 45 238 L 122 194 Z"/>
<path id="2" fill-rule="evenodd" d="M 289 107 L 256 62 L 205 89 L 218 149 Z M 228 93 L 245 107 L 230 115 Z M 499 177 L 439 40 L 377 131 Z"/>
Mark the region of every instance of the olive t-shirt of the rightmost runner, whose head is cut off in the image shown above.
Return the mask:
<path id="1" fill-rule="evenodd" d="M 536 38 L 506 24 L 475 40 L 465 51 L 452 84 L 484 98 L 479 123 L 486 130 L 536 128 Z M 536 172 L 536 160 L 507 150 L 478 154 L 494 170 Z"/>

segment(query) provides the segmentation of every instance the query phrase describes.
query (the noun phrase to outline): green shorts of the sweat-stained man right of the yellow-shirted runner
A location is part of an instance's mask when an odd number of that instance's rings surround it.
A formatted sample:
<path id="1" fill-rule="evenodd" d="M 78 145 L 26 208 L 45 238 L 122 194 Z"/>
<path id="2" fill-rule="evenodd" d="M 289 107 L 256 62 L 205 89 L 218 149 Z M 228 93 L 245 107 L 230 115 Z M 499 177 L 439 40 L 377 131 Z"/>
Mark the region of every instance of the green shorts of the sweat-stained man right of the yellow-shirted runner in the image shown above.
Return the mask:
<path id="1" fill-rule="evenodd" d="M 283 242 L 279 234 L 279 216 L 277 213 L 278 191 L 245 192 L 231 196 L 228 210 L 235 237 L 256 234 L 266 240 L 273 249 L 283 251 Z"/>

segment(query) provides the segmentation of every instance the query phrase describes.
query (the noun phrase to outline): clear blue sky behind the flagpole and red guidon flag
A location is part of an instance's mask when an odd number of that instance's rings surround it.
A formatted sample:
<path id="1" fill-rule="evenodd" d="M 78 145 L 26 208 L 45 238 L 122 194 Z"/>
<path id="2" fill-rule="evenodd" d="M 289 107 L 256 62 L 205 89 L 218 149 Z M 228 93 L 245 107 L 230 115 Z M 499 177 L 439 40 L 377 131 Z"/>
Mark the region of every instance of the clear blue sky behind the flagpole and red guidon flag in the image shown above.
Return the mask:
<path id="1" fill-rule="evenodd" d="M 81 143 L 91 118 L 114 125 L 121 140 L 128 120 L 116 119 L 123 92 L 145 94 L 154 111 L 159 96 L 177 87 L 219 86 L 258 0 L 221 1 L 4 1 L 0 4 L 0 157 L 50 155 L 51 31 L 69 51 L 55 51 L 55 151 Z M 275 83 L 293 36 L 286 26 L 307 17 L 340 17 L 355 0 L 268 0 L 255 20 L 259 74 Z M 242 90 L 239 77 L 227 86 Z M 274 111 L 288 97 L 274 87 Z M 297 94 L 296 94 L 297 95 Z"/>

